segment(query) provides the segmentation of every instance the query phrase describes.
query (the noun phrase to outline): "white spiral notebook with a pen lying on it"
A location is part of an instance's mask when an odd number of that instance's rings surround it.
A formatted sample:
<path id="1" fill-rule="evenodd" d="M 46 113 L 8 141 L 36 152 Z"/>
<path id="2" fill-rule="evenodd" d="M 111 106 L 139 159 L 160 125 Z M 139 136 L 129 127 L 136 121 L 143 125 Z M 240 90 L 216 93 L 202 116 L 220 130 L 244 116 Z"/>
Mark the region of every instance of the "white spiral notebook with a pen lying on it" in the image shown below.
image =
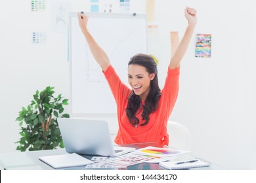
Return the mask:
<path id="1" fill-rule="evenodd" d="M 209 167 L 208 163 L 205 163 L 199 159 L 192 159 L 188 161 L 164 161 L 159 165 L 165 169 L 179 170 L 179 169 L 193 169 L 200 167 Z"/>

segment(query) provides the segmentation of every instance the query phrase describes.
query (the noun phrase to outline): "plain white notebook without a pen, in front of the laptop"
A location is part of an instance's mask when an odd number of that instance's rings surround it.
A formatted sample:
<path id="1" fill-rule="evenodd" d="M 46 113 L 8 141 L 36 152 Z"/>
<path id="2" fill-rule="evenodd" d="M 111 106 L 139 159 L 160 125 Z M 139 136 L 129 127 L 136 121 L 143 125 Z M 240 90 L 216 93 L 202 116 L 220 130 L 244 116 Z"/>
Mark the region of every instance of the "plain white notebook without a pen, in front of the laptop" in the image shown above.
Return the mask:
<path id="1" fill-rule="evenodd" d="M 84 158 L 78 154 L 61 154 L 53 156 L 41 156 L 39 159 L 54 169 L 60 169 L 65 167 L 79 167 L 94 163 L 93 161 Z"/>

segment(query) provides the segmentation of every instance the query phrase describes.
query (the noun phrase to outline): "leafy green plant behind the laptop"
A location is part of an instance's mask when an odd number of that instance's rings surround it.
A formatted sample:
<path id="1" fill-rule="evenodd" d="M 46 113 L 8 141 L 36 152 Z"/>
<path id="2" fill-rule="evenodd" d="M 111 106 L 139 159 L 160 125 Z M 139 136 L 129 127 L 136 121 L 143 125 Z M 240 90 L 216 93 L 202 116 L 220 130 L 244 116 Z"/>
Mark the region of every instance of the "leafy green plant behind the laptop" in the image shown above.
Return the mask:
<path id="1" fill-rule="evenodd" d="M 69 118 L 64 112 L 63 105 L 68 105 L 68 99 L 62 95 L 53 96 L 54 87 L 47 86 L 45 90 L 38 90 L 27 108 L 22 107 L 16 121 L 20 122 L 20 141 L 16 150 L 49 150 L 56 147 L 64 148 L 60 129 L 56 118 Z"/>

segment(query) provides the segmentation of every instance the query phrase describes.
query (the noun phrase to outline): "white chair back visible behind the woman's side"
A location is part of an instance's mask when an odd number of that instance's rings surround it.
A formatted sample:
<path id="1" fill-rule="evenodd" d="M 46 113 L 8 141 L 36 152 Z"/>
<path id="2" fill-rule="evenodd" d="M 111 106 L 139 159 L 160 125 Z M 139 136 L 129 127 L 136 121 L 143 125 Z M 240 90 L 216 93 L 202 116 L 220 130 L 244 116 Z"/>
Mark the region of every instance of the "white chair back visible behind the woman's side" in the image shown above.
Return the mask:
<path id="1" fill-rule="evenodd" d="M 177 122 L 167 122 L 167 132 L 169 134 L 169 146 L 178 150 L 190 150 L 191 136 L 188 129 Z"/>

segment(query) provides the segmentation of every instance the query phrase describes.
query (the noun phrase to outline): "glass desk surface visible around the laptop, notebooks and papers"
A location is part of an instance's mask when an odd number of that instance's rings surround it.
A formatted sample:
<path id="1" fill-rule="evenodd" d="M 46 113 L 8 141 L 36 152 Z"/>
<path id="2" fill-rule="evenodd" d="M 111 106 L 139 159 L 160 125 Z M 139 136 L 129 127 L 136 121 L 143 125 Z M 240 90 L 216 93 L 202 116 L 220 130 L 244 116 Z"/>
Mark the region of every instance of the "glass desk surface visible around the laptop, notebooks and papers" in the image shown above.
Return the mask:
<path id="1" fill-rule="evenodd" d="M 152 146 L 152 144 L 132 144 L 129 146 L 135 146 L 136 148 L 143 148 L 146 146 Z M 40 156 L 51 156 L 51 155 L 58 155 L 58 154 L 67 154 L 64 149 L 58 149 L 58 150 L 40 150 L 40 151 L 30 151 L 30 152 L 13 152 L 13 153 L 5 153 L 0 154 L 0 169 L 26 169 L 26 170 L 32 170 L 32 169 L 53 169 L 49 165 L 43 163 L 38 158 Z M 92 156 L 85 156 L 86 158 L 91 158 Z M 182 154 L 177 156 L 173 161 L 182 161 L 185 159 L 194 159 L 197 158 L 196 156 L 193 156 L 192 154 Z M 201 158 L 197 158 L 201 159 Z M 205 161 L 204 159 L 201 159 L 202 161 Z M 222 170 L 225 169 L 224 167 L 221 167 L 219 165 L 215 165 L 214 163 L 211 163 L 209 161 L 205 161 L 209 163 L 209 167 L 202 167 L 197 169 L 214 169 L 214 170 Z M 85 167 L 70 167 L 65 169 L 87 169 Z M 158 163 L 139 163 L 137 165 L 131 165 L 128 166 L 126 169 L 128 170 L 162 170 L 164 169 L 161 167 Z"/>

